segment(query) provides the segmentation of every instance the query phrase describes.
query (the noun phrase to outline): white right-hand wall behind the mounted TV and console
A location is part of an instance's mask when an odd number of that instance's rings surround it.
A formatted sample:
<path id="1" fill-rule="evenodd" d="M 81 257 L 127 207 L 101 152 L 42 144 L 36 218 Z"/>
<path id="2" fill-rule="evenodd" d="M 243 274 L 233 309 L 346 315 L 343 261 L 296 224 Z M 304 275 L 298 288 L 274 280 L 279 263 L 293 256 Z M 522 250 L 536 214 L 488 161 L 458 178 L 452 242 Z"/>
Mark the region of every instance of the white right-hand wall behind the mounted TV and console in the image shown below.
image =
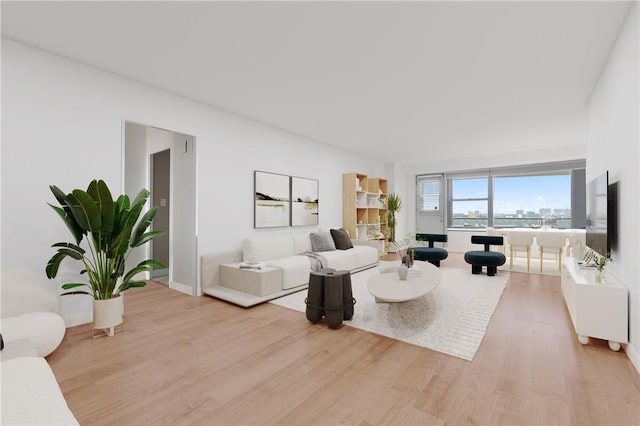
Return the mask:
<path id="1" fill-rule="evenodd" d="M 629 289 L 627 352 L 640 370 L 640 33 L 638 3 L 625 26 L 591 95 L 588 108 L 587 181 L 605 170 L 617 182 L 618 247 L 607 270 Z"/>

